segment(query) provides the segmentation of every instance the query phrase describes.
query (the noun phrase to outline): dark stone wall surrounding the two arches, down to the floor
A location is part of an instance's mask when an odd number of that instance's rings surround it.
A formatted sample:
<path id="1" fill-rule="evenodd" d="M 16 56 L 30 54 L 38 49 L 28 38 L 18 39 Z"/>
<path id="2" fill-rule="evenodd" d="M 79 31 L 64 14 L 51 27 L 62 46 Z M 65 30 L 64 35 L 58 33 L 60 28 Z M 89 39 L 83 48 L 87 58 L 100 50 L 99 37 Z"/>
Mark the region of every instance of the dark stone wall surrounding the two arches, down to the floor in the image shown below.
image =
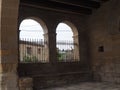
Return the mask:
<path id="1" fill-rule="evenodd" d="M 92 75 L 89 67 L 88 37 L 86 33 L 86 19 L 88 16 L 71 13 L 61 13 L 46 9 L 20 6 L 19 25 L 22 20 L 31 18 L 43 21 L 47 30 L 44 31 L 45 39 L 48 40 L 49 63 L 20 63 L 19 77 L 33 78 L 34 90 L 43 87 L 91 81 Z M 79 62 L 57 62 L 56 59 L 56 28 L 61 22 L 73 24 L 74 41 L 78 41 L 80 48 Z M 69 22 L 69 23 L 68 23 Z M 41 24 L 41 22 L 39 22 Z M 76 39 L 77 38 L 77 39 Z"/>

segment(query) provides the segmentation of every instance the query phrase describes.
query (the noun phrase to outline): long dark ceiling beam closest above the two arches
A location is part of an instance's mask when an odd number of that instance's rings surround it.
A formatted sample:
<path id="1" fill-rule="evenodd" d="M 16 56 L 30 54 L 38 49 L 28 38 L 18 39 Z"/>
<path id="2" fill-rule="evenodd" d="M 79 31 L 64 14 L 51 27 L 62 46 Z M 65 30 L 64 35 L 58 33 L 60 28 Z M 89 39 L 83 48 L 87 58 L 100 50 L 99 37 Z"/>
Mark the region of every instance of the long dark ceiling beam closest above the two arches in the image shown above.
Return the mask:
<path id="1" fill-rule="evenodd" d="M 75 12 L 79 14 L 91 14 L 92 10 L 89 8 L 84 8 L 80 6 L 68 5 L 64 3 L 58 3 L 49 0 L 20 0 L 20 4 L 26 4 L 31 6 L 37 6 L 39 8 L 50 9 L 50 10 L 58 10 L 58 11 L 66 11 L 66 12 Z"/>

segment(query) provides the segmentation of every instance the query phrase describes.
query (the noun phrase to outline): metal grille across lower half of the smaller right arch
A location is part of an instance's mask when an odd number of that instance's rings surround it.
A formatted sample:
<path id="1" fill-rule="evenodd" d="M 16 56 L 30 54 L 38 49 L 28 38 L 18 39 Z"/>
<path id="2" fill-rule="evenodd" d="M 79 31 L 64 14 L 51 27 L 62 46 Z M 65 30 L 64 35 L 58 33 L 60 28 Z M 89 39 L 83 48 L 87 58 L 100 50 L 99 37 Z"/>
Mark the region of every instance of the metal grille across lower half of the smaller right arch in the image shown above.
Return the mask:
<path id="1" fill-rule="evenodd" d="M 77 44 L 73 41 L 57 41 L 57 59 L 59 62 L 79 61 Z"/>

